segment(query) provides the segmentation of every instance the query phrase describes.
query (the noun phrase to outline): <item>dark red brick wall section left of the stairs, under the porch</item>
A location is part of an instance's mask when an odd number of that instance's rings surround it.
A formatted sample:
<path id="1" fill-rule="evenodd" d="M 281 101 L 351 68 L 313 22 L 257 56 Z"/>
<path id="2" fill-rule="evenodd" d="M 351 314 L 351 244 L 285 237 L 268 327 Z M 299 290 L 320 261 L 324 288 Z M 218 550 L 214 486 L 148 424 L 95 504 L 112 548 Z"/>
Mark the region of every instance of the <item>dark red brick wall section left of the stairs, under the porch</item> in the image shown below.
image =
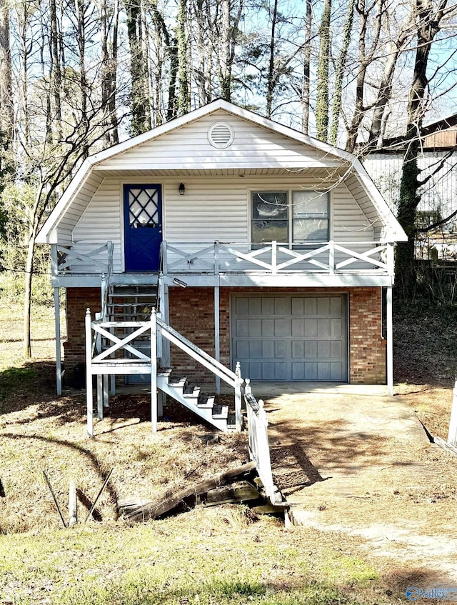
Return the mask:
<path id="1" fill-rule="evenodd" d="M 84 332 L 84 317 L 86 309 L 91 309 L 94 319 L 101 311 L 100 288 L 67 288 L 66 289 L 66 334 L 64 342 L 65 378 L 68 381 L 73 376 L 76 364 L 84 364 L 86 360 L 86 342 Z"/>

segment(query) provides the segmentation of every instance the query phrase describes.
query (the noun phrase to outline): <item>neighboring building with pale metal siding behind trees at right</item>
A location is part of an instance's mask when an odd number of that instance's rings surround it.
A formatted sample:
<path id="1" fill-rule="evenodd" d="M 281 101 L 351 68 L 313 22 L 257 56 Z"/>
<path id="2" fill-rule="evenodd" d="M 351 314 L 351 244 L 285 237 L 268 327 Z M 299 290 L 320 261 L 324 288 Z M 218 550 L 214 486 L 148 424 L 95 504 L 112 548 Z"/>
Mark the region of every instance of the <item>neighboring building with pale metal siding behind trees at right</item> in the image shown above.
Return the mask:
<path id="1" fill-rule="evenodd" d="M 393 211 L 400 192 L 403 154 L 408 142 L 398 136 L 383 141 L 382 149 L 372 151 L 363 166 Z M 418 215 L 421 226 L 432 224 L 438 216 L 445 218 L 457 210 L 457 114 L 423 128 L 418 166 L 420 179 L 435 172 L 421 188 Z M 443 166 L 440 166 L 440 162 Z M 455 219 L 454 219 L 455 222 Z"/>

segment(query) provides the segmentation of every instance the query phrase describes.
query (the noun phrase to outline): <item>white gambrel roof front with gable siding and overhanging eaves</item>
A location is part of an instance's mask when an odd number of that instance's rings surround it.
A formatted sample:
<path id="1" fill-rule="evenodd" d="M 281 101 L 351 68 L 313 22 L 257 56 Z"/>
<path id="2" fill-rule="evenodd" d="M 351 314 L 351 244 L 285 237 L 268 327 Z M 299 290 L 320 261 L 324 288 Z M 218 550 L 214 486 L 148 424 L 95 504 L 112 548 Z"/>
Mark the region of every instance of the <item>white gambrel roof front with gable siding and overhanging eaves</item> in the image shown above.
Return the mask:
<path id="1" fill-rule="evenodd" d="M 233 132 L 233 143 L 209 141 L 215 122 Z M 385 226 L 388 241 L 406 234 L 361 162 L 346 151 L 242 109 L 222 99 L 87 158 L 41 229 L 39 243 L 70 232 L 105 177 L 261 176 L 327 171 L 343 180 L 371 222 Z"/>

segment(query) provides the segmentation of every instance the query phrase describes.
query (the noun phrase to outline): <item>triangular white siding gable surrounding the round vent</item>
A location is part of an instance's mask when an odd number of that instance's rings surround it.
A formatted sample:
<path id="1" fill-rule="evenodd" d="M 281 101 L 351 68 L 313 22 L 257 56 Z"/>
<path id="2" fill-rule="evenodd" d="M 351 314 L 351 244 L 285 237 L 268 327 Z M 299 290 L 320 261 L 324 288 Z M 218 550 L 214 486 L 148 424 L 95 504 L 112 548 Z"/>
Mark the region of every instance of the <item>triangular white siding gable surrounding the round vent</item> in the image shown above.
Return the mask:
<path id="1" fill-rule="evenodd" d="M 215 149 L 208 140 L 213 124 L 224 121 L 234 132 L 233 143 Z M 341 160 L 257 124 L 216 111 L 199 121 L 106 159 L 97 169 L 231 169 L 337 167 Z"/>

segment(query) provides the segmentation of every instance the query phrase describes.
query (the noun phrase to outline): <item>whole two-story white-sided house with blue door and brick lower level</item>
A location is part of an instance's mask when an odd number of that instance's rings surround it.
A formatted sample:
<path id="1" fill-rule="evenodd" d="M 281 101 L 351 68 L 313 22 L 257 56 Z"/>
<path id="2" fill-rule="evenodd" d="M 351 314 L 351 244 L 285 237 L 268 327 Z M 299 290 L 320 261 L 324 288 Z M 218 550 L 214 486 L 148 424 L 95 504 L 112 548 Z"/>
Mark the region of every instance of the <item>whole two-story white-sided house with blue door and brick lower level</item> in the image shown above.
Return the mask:
<path id="1" fill-rule="evenodd" d="M 357 159 L 223 100 L 90 156 L 38 237 L 56 301 L 66 289 L 66 372 L 86 359 L 86 308 L 128 321 L 154 304 L 243 378 L 390 390 L 405 239 Z M 161 363 L 214 383 L 185 353 Z"/>

